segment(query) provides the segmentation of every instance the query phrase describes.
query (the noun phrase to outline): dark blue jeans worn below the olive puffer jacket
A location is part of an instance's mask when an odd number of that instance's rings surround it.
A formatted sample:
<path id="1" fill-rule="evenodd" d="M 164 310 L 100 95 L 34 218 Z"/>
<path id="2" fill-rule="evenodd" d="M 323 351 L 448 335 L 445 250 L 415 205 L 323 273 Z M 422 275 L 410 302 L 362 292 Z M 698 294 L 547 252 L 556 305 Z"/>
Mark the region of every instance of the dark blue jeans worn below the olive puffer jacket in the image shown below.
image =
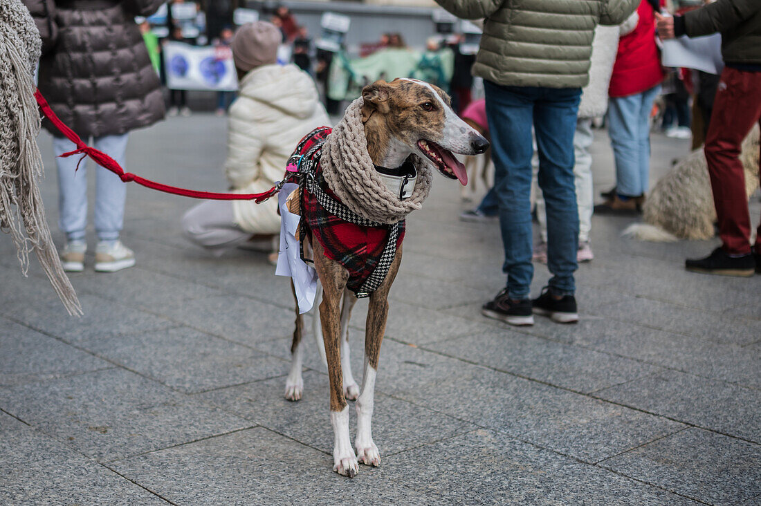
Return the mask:
<path id="1" fill-rule="evenodd" d="M 549 287 L 553 294 L 574 294 L 578 210 L 573 136 L 581 89 L 500 86 L 489 81 L 484 82 L 484 88 L 508 295 L 527 298 L 533 278 L 532 124 L 539 151 L 539 186 L 546 202 L 547 266 L 552 272 Z"/>

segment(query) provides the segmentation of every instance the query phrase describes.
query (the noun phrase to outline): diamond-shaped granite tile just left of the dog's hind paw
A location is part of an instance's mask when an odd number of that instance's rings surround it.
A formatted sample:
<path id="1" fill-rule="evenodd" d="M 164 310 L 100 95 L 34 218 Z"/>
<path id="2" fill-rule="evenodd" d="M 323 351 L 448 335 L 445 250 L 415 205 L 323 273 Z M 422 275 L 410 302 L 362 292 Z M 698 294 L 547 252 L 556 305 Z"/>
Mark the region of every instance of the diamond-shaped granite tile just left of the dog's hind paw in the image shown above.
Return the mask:
<path id="1" fill-rule="evenodd" d="M 288 371 L 287 364 L 277 358 L 186 326 L 90 339 L 81 345 L 185 393 L 263 380 Z"/>

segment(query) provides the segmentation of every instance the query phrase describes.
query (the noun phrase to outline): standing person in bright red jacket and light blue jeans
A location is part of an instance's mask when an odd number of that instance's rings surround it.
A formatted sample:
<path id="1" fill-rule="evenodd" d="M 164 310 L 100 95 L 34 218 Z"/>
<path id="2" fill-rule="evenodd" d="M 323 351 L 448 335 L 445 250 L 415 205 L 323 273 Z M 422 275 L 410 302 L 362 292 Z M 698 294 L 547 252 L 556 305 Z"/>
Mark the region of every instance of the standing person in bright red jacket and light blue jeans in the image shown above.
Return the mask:
<path id="1" fill-rule="evenodd" d="M 635 215 L 645 202 L 650 183 L 650 113 L 664 79 L 655 44 L 657 5 L 642 0 L 637 27 L 619 40 L 607 116 L 616 188 L 594 206 L 599 215 Z"/>

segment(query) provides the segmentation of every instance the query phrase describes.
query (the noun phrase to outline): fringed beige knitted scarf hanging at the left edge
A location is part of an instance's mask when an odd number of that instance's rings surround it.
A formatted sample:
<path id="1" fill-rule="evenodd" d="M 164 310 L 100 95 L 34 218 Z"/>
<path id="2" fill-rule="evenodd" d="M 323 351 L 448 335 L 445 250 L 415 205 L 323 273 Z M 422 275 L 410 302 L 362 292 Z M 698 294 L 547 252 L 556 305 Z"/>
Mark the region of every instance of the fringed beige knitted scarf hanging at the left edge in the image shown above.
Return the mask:
<path id="1" fill-rule="evenodd" d="M 40 113 L 33 73 L 40 59 L 40 33 L 20 0 L 0 2 L 0 230 L 11 234 L 24 275 L 37 253 L 70 314 L 81 306 L 50 237 L 37 180 L 43 161 L 37 148 Z"/>

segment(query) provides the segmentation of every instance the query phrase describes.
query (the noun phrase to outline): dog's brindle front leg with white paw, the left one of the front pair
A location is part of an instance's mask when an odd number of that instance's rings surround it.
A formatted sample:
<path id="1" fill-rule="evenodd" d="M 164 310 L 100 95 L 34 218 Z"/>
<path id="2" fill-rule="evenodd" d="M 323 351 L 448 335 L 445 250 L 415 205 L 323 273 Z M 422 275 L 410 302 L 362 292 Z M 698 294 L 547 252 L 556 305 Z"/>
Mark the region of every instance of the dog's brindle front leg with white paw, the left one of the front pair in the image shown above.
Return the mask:
<path id="1" fill-rule="evenodd" d="M 343 394 L 341 373 L 341 299 L 349 271 L 325 256 L 319 241 L 314 241 L 314 267 L 323 285 L 320 323 L 323 327 L 325 356 L 330 381 L 330 424 L 333 425 L 333 470 L 353 478 L 359 472 L 357 456 L 349 436 L 349 405 Z"/>

